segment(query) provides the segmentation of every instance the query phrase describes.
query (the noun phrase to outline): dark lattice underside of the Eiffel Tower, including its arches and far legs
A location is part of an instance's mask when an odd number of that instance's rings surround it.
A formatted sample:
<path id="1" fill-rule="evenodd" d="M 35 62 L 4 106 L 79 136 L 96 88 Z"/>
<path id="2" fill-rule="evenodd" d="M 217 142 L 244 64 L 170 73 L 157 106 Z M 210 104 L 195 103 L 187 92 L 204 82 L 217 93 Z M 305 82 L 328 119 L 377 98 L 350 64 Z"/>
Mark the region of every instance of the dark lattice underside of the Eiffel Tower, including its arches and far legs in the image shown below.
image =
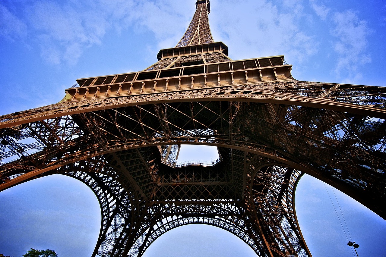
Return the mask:
<path id="1" fill-rule="evenodd" d="M 369 107 L 383 96 L 366 96 L 367 107 L 347 112 L 358 97 L 311 106 L 300 98 L 255 102 L 249 94 L 242 101 L 239 94 L 93 110 L 79 105 L 71 116 L 62 106 L 45 120 L 38 120 L 39 110 L 3 117 L 10 125 L 0 130 L 0 190 L 52 173 L 86 183 L 102 210 L 93 256 L 141 256 L 186 223 L 224 228 L 260 256 L 310 256 L 293 210 L 302 172 L 386 216 L 379 204 L 386 200 L 386 112 Z M 338 104 L 349 107 L 339 111 Z M 12 124 L 23 115 L 28 123 Z M 223 161 L 175 169 L 161 162 L 170 144 L 215 145 Z"/>

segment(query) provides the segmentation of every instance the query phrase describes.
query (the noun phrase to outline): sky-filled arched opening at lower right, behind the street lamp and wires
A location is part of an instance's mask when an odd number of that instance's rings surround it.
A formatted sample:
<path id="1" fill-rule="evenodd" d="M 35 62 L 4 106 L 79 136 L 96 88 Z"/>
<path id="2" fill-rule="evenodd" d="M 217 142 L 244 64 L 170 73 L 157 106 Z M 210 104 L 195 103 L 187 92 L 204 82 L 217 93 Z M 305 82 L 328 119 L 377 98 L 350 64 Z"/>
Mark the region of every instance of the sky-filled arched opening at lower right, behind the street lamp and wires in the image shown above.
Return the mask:
<path id="1" fill-rule="evenodd" d="M 386 220 L 312 176 L 303 175 L 296 187 L 295 211 L 313 257 L 357 256 L 347 245 L 349 240 L 359 244 L 359 256 L 386 256 Z"/>

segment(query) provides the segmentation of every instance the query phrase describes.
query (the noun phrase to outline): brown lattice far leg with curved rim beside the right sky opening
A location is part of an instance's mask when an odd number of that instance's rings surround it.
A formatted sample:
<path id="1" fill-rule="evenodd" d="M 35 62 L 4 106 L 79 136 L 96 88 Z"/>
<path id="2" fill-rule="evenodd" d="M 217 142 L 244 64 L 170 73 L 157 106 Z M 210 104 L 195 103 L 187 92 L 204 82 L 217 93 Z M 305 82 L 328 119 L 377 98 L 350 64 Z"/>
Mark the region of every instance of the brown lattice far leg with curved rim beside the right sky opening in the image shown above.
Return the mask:
<path id="1" fill-rule="evenodd" d="M 295 189 L 303 173 L 283 164 L 258 164 L 256 159 L 249 164 L 251 186 L 245 197 L 254 206 L 267 247 L 277 254 L 312 256 L 295 213 Z"/>

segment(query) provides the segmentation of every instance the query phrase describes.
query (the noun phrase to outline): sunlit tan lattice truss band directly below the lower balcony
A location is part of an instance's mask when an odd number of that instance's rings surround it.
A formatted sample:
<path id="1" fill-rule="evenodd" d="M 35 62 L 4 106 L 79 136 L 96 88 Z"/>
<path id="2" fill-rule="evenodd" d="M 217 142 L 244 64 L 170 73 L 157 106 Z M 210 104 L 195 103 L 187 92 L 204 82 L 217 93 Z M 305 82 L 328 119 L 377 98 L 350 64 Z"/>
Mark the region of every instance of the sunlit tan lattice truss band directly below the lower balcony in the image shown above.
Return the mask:
<path id="1" fill-rule="evenodd" d="M 183 99 L 182 99 L 183 98 Z M 386 90 L 384 87 L 341 85 L 308 81 L 273 81 L 242 85 L 224 85 L 211 88 L 194 88 L 183 91 L 157 91 L 155 94 L 133 94 L 119 97 L 86 98 L 61 101 L 0 117 L 0 128 L 43 120 L 59 115 L 72 115 L 109 107 L 141 105 L 159 101 L 254 101 L 328 107 L 349 112 L 374 113 L 374 117 L 386 118 Z M 375 114 L 378 113 L 378 114 Z"/>

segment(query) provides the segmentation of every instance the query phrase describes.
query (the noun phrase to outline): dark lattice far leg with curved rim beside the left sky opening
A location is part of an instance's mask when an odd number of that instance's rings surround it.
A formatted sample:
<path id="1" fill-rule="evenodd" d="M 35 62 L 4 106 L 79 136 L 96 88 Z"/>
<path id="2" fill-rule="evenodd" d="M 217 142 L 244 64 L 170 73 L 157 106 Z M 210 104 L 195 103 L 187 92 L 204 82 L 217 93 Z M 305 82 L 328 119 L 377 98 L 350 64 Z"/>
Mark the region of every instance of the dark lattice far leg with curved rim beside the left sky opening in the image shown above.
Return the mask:
<path id="1" fill-rule="evenodd" d="M 95 172 L 95 166 L 102 167 Z M 86 167 L 88 170 L 86 170 Z M 117 243 L 126 245 L 128 238 L 120 238 L 120 228 L 131 223 L 131 216 L 141 203 L 127 181 L 120 178 L 117 168 L 107 165 L 103 158 L 90 159 L 87 163 L 74 162 L 57 169 L 57 172 L 85 183 L 97 196 L 101 208 L 101 227 L 92 256 L 106 253 L 119 256 Z M 134 210 L 133 210 L 134 209 Z M 118 242 L 117 242 L 118 240 Z"/>

